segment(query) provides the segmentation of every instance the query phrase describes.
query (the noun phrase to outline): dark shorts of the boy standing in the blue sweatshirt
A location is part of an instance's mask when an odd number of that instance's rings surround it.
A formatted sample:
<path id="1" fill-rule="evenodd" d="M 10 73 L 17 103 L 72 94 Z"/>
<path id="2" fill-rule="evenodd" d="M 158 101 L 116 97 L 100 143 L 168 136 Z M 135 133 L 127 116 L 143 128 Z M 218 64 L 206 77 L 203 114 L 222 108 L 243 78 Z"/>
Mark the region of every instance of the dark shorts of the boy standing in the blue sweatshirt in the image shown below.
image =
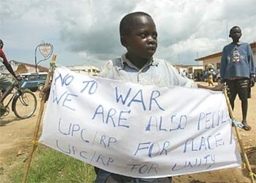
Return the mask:
<path id="1" fill-rule="evenodd" d="M 249 79 L 235 79 L 227 80 L 228 88 L 231 99 L 235 99 L 238 94 L 240 100 L 247 100 L 250 98 L 250 86 Z"/>

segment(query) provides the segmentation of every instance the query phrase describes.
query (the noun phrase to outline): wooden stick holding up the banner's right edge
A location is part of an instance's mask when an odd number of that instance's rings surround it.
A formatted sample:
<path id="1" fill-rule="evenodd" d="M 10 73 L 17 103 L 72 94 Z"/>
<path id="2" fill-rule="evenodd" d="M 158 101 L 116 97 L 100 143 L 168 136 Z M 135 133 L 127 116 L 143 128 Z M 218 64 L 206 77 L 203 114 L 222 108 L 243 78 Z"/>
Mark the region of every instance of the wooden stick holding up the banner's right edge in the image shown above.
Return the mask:
<path id="1" fill-rule="evenodd" d="M 228 111 L 229 111 L 230 117 L 231 117 L 232 120 L 233 120 L 233 119 L 234 119 L 233 109 L 232 109 L 231 104 L 230 104 L 230 102 L 229 102 L 228 93 L 227 93 L 226 88 L 224 88 L 223 93 L 224 93 L 225 98 L 226 98 L 226 103 L 228 104 Z M 239 142 L 239 146 L 240 146 L 241 151 L 242 151 L 242 158 L 244 159 L 245 164 L 246 164 L 246 168 L 247 168 L 248 171 L 249 171 L 250 181 L 251 181 L 252 183 L 255 183 L 255 181 L 254 181 L 254 172 L 252 172 L 252 169 L 250 168 L 250 163 L 249 163 L 249 160 L 248 160 L 248 158 L 247 158 L 247 155 L 246 155 L 246 153 L 245 153 L 245 151 L 244 151 L 244 146 L 243 146 L 243 143 L 242 143 L 242 139 L 241 139 L 241 136 L 240 136 L 240 134 L 239 134 L 239 131 L 238 131 L 236 125 L 234 125 L 234 129 L 236 130 L 237 140 L 238 140 L 238 142 Z"/>

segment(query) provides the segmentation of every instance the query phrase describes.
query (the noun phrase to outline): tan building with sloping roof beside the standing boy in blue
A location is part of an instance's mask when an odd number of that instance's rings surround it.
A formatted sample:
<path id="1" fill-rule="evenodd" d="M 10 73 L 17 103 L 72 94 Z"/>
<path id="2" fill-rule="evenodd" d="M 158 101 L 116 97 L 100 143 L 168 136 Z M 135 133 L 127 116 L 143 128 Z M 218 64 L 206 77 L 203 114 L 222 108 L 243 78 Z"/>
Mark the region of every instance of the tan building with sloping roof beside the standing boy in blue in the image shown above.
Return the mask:
<path id="1" fill-rule="evenodd" d="M 250 47 L 252 48 L 252 53 L 254 54 L 254 61 L 256 61 L 256 42 L 250 43 Z M 195 59 L 195 61 L 203 61 L 204 70 L 207 70 L 208 64 L 212 64 L 215 69 L 220 69 L 221 54 L 222 52 L 210 54 L 208 56 Z"/>

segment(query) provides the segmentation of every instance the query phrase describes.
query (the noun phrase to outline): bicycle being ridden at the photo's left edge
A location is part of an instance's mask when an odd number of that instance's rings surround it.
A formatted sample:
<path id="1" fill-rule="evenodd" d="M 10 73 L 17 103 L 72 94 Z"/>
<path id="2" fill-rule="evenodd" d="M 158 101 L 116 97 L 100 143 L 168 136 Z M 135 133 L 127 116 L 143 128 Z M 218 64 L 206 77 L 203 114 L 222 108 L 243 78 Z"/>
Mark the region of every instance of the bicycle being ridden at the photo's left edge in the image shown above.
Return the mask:
<path id="1" fill-rule="evenodd" d="M 9 104 L 11 103 L 12 111 L 20 119 L 27 119 L 35 113 L 37 102 L 32 91 L 24 90 L 18 81 L 15 81 L 7 90 L 7 92 L 0 92 L 0 101 L 7 100 L 7 96 L 12 95 L 4 104 L 5 113 L 2 116 L 10 113 Z"/>

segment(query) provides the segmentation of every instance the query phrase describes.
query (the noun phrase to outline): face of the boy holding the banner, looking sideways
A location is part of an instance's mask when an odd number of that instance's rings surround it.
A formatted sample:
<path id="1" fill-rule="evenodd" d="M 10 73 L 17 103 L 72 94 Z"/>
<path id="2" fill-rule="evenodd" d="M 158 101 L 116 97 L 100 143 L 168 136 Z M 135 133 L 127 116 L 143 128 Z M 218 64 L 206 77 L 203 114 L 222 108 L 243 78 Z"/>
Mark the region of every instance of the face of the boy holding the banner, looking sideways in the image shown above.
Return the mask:
<path id="1" fill-rule="evenodd" d="M 157 32 L 153 20 L 141 15 L 135 17 L 135 25 L 129 35 L 123 36 L 122 43 L 132 59 L 150 59 L 156 52 Z"/>

